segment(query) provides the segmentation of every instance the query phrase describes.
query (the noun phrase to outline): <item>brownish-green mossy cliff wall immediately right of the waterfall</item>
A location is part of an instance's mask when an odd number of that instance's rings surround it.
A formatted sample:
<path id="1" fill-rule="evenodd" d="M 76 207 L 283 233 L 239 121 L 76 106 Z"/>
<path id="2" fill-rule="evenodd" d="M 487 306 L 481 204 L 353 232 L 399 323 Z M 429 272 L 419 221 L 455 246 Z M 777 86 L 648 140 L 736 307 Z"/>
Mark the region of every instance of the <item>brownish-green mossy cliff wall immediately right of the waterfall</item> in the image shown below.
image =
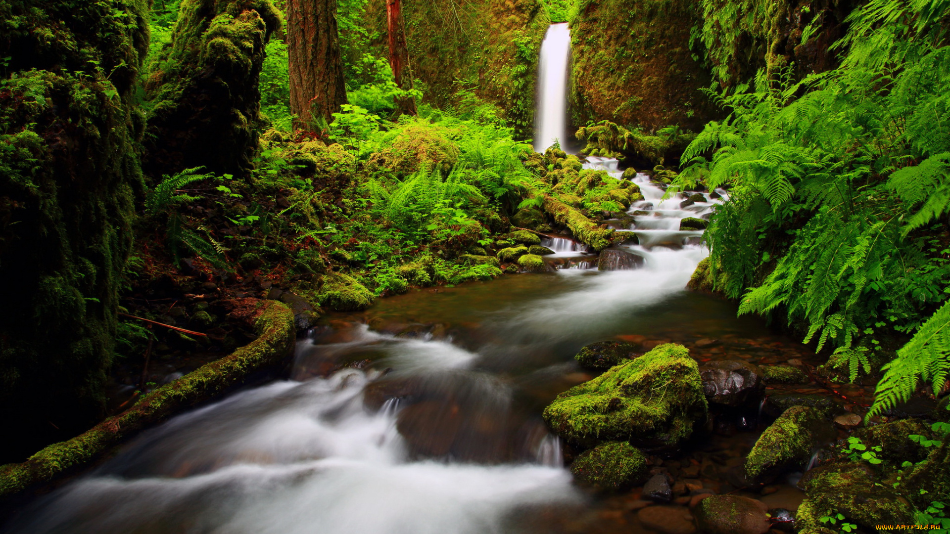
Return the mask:
<path id="1" fill-rule="evenodd" d="M 700 10 L 688 0 L 580 0 L 571 23 L 574 123 L 654 132 L 699 130 L 719 113 L 699 90 L 711 76 L 690 49 Z"/>

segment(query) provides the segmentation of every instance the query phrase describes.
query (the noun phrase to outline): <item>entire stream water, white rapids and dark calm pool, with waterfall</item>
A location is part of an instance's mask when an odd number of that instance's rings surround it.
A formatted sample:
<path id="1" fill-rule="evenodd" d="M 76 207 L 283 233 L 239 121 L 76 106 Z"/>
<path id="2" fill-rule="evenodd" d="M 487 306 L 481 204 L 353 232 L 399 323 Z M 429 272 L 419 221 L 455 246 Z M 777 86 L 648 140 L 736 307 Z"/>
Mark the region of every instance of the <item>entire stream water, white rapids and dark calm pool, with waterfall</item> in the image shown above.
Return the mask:
<path id="1" fill-rule="evenodd" d="M 565 25 L 552 30 L 548 39 L 561 47 L 552 61 L 566 71 L 569 34 Z M 563 73 L 543 68 L 563 89 Z M 563 115 L 555 109 L 563 91 L 551 98 L 542 105 Z M 541 126 L 551 138 L 563 135 L 563 123 L 554 124 Z M 585 166 L 621 176 L 616 160 Z M 633 223 L 610 221 L 631 233 L 615 252 L 637 257 L 626 264 L 634 268 L 599 271 L 586 247 L 551 236 L 543 241 L 556 252 L 549 273 L 413 290 L 366 312 L 324 317 L 298 341 L 285 379 L 144 432 L 29 505 L 7 531 L 649 531 L 637 521 L 637 490 L 604 496 L 572 482 L 564 467 L 571 451 L 542 422 L 559 392 L 592 378 L 574 354 L 622 339 L 642 351 L 682 343 L 700 362 L 814 355 L 757 318 L 736 317 L 731 302 L 686 290 L 708 250 L 701 232 L 680 231 L 680 221 L 708 218 L 718 200 L 706 193 L 684 207 L 687 194 L 662 200 L 662 184 L 643 174 L 635 181 L 645 200 L 631 206 Z M 678 455 L 653 458 L 655 469 L 717 492 L 739 489 L 731 473 L 762 429 L 756 415 L 717 417 Z M 779 485 L 759 497 L 792 507 L 801 492 Z"/>

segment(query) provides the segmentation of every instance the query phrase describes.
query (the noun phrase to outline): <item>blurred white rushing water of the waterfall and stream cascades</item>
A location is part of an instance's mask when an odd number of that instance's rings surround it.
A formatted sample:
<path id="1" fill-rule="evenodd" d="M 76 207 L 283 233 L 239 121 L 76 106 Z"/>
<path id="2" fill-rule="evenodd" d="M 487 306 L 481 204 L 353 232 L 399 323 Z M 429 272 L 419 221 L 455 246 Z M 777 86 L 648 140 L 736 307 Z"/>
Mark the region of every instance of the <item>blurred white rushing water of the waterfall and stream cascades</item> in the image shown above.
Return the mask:
<path id="1" fill-rule="evenodd" d="M 567 26 L 553 25 L 542 47 L 540 150 L 566 136 L 568 53 Z M 588 158 L 585 166 L 620 178 L 616 160 Z M 103 467 L 30 505 L 8 531 L 549 532 L 543 526 L 512 528 L 508 522 L 531 517 L 526 510 L 533 505 L 566 509 L 584 502 L 562 467 L 561 442 L 537 414 L 519 423 L 512 410 L 516 383 L 479 367 L 493 362 L 530 366 L 532 358 L 550 353 L 561 341 L 596 338 L 607 319 L 638 310 L 651 314 L 650 306 L 683 292 L 708 251 L 696 241 L 701 233 L 680 231 L 679 221 L 705 216 L 712 200 L 681 208 L 684 197 L 660 200 L 662 187 L 646 175 L 635 181 L 645 200 L 631 206 L 636 223 L 628 231 L 640 244 L 620 248 L 645 258 L 636 271 L 560 271 L 578 283 L 561 295 L 523 299 L 508 309 L 500 302 L 497 320 L 485 323 L 494 329 L 488 336 L 493 341 L 478 350 L 450 337 L 403 338 L 366 326 L 342 333 L 336 343 L 302 340 L 292 379 L 239 392 L 145 432 Z M 582 252 L 568 239 L 545 243 L 561 254 Z M 343 369 L 324 377 L 314 371 L 322 363 L 367 353 L 375 354 L 377 369 L 390 372 Z M 575 369 L 573 362 L 539 367 L 523 380 Z M 415 406 L 411 402 L 390 396 L 373 409 L 369 387 L 392 377 L 441 391 L 447 396 L 439 398 L 457 403 L 429 401 L 427 410 L 434 411 L 423 413 L 437 417 L 421 419 L 461 420 L 454 423 L 461 437 L 449 453 L 435 459 L 411 453 L 414 442 L 397 430 L 403 410 Z M 518 424 L 513 430 L 494 425 L 505 421 Z M 429 431 L 439 435 L 444 427 Z M 523 450 L 514 456 L 496 453 L 504 447 L 492 440 L 511 431 L 527 436 L 521 440 Z"/>

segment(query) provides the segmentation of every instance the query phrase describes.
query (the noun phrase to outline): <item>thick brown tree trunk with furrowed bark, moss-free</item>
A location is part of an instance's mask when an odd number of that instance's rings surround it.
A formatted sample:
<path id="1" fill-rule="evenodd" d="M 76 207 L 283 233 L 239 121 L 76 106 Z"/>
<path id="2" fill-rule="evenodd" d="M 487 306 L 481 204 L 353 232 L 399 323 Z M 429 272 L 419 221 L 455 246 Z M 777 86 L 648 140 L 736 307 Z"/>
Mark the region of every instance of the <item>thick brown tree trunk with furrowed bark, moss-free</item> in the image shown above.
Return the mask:
<path id="1" fill-rule="evenodd" d="M 347 103 L 336 29 L 336 0 L 287 2 L 287 53 L 295 126 L 330 123 Z"/>

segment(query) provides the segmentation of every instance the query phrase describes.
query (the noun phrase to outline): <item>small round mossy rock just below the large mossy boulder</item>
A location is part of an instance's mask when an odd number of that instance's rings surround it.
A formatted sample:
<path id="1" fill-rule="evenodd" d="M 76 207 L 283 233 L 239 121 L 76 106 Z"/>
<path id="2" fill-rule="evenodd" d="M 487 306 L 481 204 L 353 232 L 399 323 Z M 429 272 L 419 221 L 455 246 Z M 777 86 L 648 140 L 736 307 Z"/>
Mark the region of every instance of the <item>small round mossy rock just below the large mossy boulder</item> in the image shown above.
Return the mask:
<path id="1" fill-rule="evenodd" d="M 580 481 L 607 490 L 637 484 L 648 470 L 643 453 L 622 441 L 585 450 L 571 464 L 571 472 Z"/>

